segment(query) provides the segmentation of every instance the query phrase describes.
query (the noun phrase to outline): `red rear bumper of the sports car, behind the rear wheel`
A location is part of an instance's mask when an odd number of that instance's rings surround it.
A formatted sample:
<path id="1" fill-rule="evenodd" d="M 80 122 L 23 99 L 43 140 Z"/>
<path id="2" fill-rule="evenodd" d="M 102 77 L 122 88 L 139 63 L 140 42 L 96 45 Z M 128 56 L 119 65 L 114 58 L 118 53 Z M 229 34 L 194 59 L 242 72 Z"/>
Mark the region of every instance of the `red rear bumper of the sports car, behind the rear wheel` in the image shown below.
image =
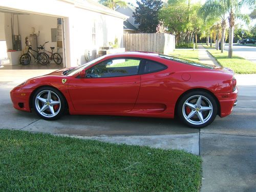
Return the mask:
<path id="1" fill-rule="evenodd" d="M 226 117 L 231 114 L 233 107 L 237 105 L 238 89 L 231 93 L 215 94 L 220 103 L 220 117 Z"/>

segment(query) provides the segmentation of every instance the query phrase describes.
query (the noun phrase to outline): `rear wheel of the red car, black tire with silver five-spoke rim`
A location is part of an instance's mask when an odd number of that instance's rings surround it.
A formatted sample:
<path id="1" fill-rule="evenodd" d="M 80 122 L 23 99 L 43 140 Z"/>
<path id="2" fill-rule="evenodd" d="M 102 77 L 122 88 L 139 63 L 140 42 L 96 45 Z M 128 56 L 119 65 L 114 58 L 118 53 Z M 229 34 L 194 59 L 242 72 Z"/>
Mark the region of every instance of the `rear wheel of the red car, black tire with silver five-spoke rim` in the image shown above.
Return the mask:
<path id="1" fill-rule="evenodd" d="M 199 106 L 198 103 L 200 103 Z M 183 123 L 199 129 L 214 121 L 218 112 L 218 105 L 215 98 L 209 93 L 192 91 L 180 99 L 177 112 Z"/>

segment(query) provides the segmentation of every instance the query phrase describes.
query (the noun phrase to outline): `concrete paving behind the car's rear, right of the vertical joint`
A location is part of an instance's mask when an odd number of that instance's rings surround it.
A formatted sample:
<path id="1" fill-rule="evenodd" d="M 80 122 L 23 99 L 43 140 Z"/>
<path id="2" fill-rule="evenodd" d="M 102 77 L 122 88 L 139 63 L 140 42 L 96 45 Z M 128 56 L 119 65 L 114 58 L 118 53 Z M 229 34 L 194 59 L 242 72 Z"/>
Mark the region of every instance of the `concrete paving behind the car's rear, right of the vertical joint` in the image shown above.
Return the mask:
<path id="1" fill-rule="evenodd" d="M 256 191 L 256 75 L 237 75 L 237 80 L 233 113 L 200 130 L 203 192 Z"/>

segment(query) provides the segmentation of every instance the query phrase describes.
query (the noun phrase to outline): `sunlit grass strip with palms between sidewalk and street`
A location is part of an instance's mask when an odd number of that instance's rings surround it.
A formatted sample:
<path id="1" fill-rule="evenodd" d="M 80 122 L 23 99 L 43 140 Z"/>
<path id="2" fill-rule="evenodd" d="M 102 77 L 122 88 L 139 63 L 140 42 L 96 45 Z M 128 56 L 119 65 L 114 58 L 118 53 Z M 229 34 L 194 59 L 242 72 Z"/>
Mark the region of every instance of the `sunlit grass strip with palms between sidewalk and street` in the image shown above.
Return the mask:
<path id="1" fill-rule="evenodd" d="M 208 50 L 209 53 L 215 57 L 215 59 L 220 63 L 221 66 L 232 69 L 238 74 L 254 74 L 256 73 L 256 63 L 244 59 L 243 57 L 238 57 L 233 55 L 233 58 L 228 58 L 228 52 L 217 50 Z"/>

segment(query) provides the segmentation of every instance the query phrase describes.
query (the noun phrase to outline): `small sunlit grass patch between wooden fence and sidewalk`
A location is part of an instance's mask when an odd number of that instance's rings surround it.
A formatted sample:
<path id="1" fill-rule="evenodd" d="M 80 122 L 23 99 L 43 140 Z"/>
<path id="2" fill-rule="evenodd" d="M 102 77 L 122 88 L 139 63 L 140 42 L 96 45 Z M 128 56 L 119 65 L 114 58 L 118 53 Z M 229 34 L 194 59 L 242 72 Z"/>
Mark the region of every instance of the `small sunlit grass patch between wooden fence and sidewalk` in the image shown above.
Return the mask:
<path id="1" fill-rule="evenodd" d="M 193 51 L 193 50 L 179 49 L 179 50 L 175 50 L 172 53 L 169 53 L 169 55 L 178 57 L 181 59 L 199 62 L 198 50 Z"/>

